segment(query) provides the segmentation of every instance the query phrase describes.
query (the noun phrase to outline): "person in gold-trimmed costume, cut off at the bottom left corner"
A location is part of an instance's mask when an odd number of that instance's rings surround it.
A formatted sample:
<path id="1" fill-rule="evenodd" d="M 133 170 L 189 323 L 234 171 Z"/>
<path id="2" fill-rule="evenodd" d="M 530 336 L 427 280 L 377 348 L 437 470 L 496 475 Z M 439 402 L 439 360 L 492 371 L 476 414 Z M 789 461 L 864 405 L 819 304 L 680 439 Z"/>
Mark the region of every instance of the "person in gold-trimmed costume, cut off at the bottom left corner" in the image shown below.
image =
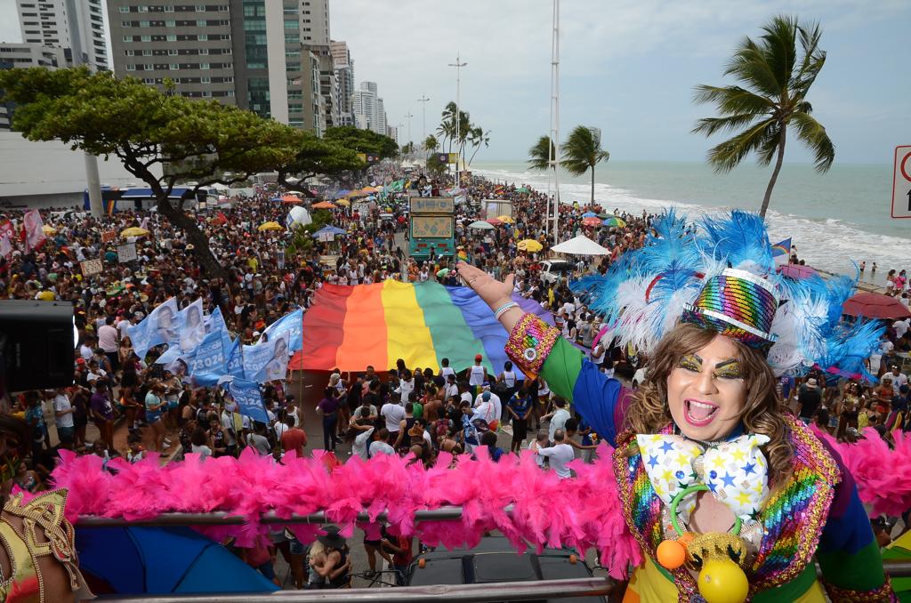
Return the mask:
<path id="1" fill-rule="evenodd" d="M 79 573 L 73 526 L 64 516 L 66 490 L 42 492 L 25 502 L 9 496 L 12 475 L 28 442 L 25 421 L 0 414 L 0 459 L 4 465 L 0 514 L 0 601 L 61 603 L 93 598 Z"/>

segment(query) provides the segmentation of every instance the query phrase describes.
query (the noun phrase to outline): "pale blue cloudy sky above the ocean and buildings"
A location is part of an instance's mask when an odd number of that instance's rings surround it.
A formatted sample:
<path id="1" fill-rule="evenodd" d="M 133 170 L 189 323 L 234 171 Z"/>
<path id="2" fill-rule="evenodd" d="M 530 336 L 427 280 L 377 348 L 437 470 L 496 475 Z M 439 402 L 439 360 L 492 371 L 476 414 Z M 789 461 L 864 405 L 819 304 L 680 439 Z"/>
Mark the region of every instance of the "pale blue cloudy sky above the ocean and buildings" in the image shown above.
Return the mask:
<path id="1" fill-rule="evenodd" d="M 331 0 L 333 39 L 345 40 L 355 86 L 377 83 L 400 141 L 435 130 L 455 100 L 490 130 L 477 160 L 524 160 L 548 133 L 550 0 Z M 697 84 L 725 85 L 725 62 L 771 16 L 818 21 L 826 64 L 808 100 L 839 163 L 888 163 L 911 144 L 907 0 L 564 0 L 560 11 L 560 138 L 601 128 L 615 160 L 701 161 L 712 144 L 691 134 L 712 107 L 692 102 Z M 19 41 L 15 0 L 0 0 L 0 41 Z M 425 96 L 426 126 L 422 103 Z M 426 128 L 426 130 L 425 130 Z M 797 144 L 789 162 L 809 161 Z"/>

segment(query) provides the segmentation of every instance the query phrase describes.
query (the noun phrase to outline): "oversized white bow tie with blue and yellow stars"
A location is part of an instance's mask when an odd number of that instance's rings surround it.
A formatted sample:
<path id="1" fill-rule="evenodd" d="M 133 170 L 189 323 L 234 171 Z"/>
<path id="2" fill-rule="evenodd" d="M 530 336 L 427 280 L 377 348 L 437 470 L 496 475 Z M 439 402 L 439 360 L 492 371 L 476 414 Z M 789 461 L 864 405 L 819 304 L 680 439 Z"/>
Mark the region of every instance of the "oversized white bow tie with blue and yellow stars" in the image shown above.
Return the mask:
<path id="1" fill-rule="evenodd" d="M 705 484 L 743 520 L 754 519 L 763 509 L 769 496 L 768 463 L 759 447 L 769 436 L 741 435 L 708 447 L 681 435 L 640 434 L 636 440 L 651 485 L 665 505 L 689 486 Z M 683 521 L 689 521 L 695 506 L 695 492 L 681 499 Z"/>

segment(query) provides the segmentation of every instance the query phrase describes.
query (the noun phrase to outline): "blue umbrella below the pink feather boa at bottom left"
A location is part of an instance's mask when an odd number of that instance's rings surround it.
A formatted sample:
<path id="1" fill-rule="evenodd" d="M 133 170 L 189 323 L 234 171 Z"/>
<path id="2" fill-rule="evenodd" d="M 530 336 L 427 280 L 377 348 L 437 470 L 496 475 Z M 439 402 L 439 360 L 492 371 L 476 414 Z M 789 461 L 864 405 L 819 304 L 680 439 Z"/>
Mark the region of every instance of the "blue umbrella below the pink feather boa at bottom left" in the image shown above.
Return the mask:
<path id="1" fill-rule="evenodd" d="M 79 567 L 103 592 L 271 592 L 279 588 L 227 548 L 186 526 L 80 527 Z"/>

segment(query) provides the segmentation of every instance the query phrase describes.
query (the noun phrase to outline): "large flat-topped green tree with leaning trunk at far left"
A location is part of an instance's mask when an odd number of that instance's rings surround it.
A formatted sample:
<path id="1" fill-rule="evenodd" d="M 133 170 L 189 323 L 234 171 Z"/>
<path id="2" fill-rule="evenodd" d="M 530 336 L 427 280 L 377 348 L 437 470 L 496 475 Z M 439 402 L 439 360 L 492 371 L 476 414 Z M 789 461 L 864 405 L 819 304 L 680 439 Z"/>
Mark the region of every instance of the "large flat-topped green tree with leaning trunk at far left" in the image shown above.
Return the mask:
<path id="1" fill-rule="evenodd" d="M 120 159 L 152 189 L 161 214 L 187 234 L 211 277 L 225 278 L 227 272 L 183 201 L 169 200 L 171 191 L 189 180 L 198 183 L 194 193 L 241 182 L 287 163 L 296 150 L 293 128 L 215 101 L 162 94 L 110 72 L 8 69 L 0 72 L 0 89 L 17 104 L 14 128 L 29 140 L 57 138 L 73 149 Z"/>

